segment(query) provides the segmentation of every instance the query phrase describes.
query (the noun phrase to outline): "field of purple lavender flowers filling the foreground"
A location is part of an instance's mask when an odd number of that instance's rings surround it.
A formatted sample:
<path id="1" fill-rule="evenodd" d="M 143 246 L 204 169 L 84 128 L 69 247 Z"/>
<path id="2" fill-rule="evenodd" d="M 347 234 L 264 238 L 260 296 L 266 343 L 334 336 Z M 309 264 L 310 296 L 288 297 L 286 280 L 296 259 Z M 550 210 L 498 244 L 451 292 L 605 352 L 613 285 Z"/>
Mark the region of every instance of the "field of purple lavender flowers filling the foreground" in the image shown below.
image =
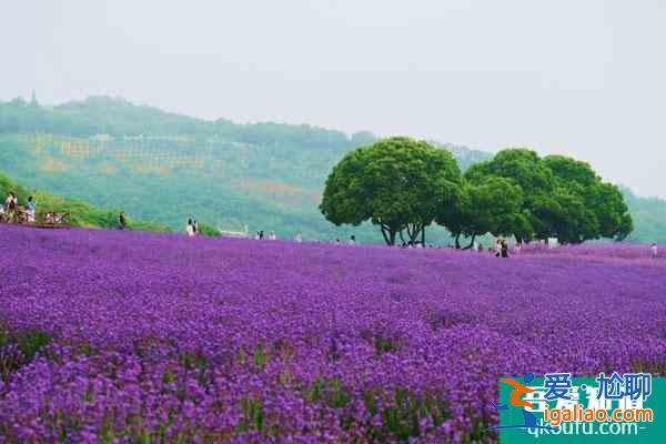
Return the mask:
<path id="1" fill-rule="evenodd" d="M 0 442 L 486 443 L 500 375 L 666 369 L 644 246 L 0 238 Z"/>

